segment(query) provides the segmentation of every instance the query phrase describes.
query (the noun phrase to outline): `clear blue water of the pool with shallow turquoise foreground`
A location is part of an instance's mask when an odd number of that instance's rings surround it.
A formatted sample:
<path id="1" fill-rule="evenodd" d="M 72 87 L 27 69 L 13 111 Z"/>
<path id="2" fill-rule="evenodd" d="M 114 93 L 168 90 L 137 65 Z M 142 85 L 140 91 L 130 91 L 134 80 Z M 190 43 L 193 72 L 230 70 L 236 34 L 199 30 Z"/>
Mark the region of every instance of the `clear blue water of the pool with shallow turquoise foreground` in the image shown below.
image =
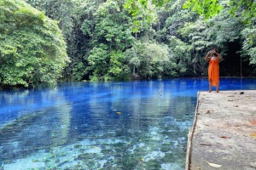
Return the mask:
<path id="1" fill-rule="evenodd" d="M 255 79 L 220 83 L 256 89 Z M 184 169 L 196 95 L 207 88 L 207 79 L 174 79 L 3 91 L 0 169 Z"/>

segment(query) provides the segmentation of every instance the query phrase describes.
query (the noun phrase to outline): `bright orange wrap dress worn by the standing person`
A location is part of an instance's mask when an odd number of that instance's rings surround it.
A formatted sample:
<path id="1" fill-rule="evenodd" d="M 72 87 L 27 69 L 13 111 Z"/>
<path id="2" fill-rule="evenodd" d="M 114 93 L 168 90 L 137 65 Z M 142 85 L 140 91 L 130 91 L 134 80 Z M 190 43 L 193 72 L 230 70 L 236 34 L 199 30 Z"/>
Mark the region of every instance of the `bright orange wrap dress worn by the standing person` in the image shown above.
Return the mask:
<path id="1" fill-rule="evenodd" d="M 211 59 L 208 67 L 208 80 L 212 80 L 212 86 L 217 86 L 219 83 L 219 68 L 218 59 Z"/>

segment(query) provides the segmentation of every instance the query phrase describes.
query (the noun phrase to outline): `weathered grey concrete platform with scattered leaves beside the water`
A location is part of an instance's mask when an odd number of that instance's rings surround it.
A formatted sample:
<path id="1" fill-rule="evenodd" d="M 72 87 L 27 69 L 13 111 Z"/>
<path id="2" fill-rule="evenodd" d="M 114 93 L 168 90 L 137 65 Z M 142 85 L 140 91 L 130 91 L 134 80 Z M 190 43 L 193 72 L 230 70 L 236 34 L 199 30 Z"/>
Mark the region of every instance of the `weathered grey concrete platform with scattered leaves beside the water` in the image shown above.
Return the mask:
<path id="1" fill-rule="evenodd" d="M 198 94 L 186 169 L 256 169 L 256 90 Z"/>

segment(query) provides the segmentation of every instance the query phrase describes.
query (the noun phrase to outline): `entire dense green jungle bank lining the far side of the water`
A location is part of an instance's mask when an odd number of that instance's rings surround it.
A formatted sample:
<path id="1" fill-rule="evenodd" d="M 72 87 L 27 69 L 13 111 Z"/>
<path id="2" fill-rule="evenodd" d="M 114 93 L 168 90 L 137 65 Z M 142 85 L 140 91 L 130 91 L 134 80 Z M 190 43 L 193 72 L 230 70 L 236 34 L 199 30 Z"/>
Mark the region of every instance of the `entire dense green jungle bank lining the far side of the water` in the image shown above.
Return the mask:
<path id="1" fill-rule="evenodd" d="M 57 82 L 256 75 L 256 3 L 0 0 L 0 89 Z"/>

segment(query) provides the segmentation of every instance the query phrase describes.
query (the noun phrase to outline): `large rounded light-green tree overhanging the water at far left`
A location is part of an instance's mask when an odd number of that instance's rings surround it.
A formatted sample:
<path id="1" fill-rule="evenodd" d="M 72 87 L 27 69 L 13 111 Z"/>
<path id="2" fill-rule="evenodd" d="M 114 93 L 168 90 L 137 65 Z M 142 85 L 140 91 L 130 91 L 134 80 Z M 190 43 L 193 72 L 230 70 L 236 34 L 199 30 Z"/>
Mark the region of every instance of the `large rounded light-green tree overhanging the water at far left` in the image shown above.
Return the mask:
<path id="1" fill-rule="evenodd" d="M 1 85 L 55 84 L 69 61 L 55 21 L 18 0 L 0 8 Z"/>

